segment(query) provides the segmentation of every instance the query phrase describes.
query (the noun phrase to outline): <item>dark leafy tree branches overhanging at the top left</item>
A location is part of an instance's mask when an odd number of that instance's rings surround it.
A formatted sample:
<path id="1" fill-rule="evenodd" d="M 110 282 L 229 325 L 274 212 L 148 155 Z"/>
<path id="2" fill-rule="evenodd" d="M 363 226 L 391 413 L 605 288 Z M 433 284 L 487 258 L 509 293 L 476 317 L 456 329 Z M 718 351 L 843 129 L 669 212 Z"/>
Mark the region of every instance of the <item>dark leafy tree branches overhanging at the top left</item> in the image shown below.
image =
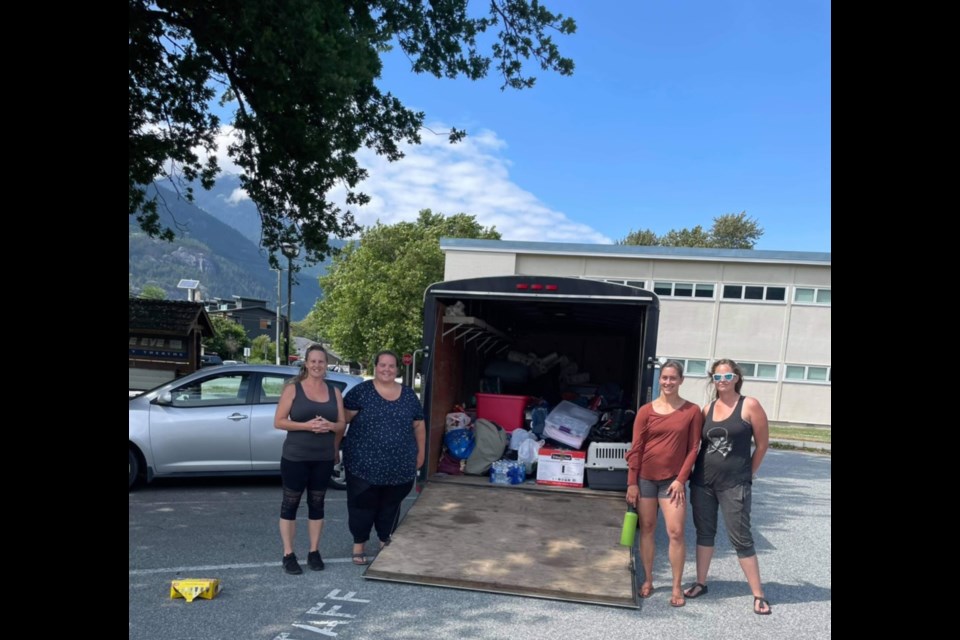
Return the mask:
<path id="1" fill-rule="evenodd" d="M 378 86 L 385 52 L 399 47 L 413 72 L 436 77 L 476 80 L 494 64 L 502 88 L 533 86 L 530 61 L 573 73 L 553 41 L 576 31 L 573 19 L 539 0 L 490 0 L 479 17 L 468 4 L 129 0 L 130 215 L 149 235 L 174 237 L 145 185 L 170 179 L 191 201 L 193 184 L 213 185 L 219 99 L 233 110 L 228 153 L 260 212 L 272 266 L 284 241 L 303 247 L 308 262 L 323 258 L 330 236 L 357 231 L 351 211 L 327 201 L 330 189 L 345 185 L 348 206 L 369 200 L 356 189 L 367 172 L 354 154 L 368 147 L 393 161 L 400 143 L 420 142 L 425 114 Z"/>

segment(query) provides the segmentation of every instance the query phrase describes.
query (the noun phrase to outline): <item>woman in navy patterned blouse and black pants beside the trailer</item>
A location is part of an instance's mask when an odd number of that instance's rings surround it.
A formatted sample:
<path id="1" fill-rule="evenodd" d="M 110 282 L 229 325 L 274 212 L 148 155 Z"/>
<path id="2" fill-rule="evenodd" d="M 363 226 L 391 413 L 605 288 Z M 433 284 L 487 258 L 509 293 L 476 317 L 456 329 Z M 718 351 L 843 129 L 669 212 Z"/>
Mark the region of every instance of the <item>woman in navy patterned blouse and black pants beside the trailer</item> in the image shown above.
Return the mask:
<path id="1" fill-rule="evenodd" d="M 400 503 L 423 466 L 423 406 L 413 389 L 396 381 L 398 361 L 392 351 L 378 353 L 373 380 L 358 384 L 343 398 L 350 423 L 343 466 L 354 564 L 368 563 L 364 546 L 371 528 L 377 530 L 381 549 L 390 543 Z"/>

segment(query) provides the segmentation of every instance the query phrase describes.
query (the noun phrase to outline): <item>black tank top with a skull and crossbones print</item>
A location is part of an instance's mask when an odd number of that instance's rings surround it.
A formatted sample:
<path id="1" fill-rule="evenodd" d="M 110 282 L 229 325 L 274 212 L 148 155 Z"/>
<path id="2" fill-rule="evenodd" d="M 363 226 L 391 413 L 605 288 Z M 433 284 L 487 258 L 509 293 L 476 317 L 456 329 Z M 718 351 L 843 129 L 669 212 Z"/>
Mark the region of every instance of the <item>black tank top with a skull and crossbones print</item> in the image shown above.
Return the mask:
<path id="1" fill-rule="evenodd" d="M 750 441 L 753 427 L 743 419 L 745 399 L 746 396 L 740 396 L 730 416 L 720 421 L 713 419 L 717 401 L 710 403 L 703 421 L 700 453 L 691 480 L 693 484 L 722 490 L 752 482 Z"/>

